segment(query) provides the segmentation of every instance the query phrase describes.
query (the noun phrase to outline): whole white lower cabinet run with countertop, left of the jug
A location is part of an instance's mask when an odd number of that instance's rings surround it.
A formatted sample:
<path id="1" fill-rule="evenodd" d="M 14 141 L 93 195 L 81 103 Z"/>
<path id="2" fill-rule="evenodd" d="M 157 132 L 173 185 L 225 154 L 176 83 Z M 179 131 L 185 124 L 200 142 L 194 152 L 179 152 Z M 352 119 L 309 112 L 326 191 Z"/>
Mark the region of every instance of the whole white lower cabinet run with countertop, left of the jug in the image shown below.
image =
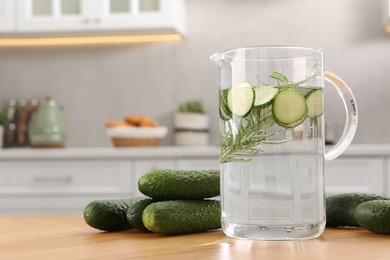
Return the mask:
<path id="1" fill-rule="evenodd" d="M 97 199 L 141 196 L 153 169 L 209 169 L 218 149 L 66 148 L 0 150 L 0 215 L 82 215 Z"/>

